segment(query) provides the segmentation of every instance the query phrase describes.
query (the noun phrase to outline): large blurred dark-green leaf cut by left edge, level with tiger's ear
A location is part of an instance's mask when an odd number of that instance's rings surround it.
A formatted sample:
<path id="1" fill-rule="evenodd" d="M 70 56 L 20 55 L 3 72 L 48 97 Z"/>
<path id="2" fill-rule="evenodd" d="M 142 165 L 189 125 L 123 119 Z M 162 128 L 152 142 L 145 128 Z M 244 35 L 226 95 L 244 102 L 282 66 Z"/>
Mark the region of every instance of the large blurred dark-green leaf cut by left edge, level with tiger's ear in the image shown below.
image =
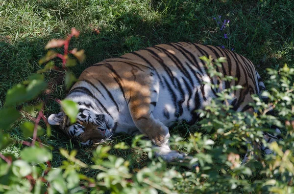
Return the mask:
<path id="1" fill-rule="evenodd" d="M 0 110 L 0 129 L 8 129 L 9 126 L 20 117 L 19 111 L 14 108 Z"/>

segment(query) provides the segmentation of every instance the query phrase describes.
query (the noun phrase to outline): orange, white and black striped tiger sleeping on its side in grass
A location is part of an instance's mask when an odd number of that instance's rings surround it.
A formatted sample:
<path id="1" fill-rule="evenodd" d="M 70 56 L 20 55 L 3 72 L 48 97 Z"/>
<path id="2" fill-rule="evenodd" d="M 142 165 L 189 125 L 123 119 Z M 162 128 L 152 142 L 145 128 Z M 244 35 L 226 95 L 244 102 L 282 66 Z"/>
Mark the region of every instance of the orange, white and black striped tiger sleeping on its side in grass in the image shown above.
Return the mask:
<path id="1" fill-rule="evenodd" d="M 248 59 L 220 47 L 181 42 L 148 47 L 87 68 L 66 97 L 78 103 L 76 123 L 71 125 L 63 111 L 51 114 L 48 122 L 82 145 L 114 133 L 144 134 L 158 148 L 157 156 L 167 161 L 182 159 L 185 153 L 169 147 L 169 127 L 175 122 L 195 123 L 199 116 L 195 110 L 216 97 L 216 89 L 203 84 L 217 82 L 199 59 L 209 55 L 225 57 L 227 62 L 217 70 L 238 79 L 223 87 L 243 86 L 230 102 L 233 109 L 252 110 L 248 105 L 253 102 L 251 95 L 260 94 L 265 85 Z M 272 141 L 277 137 L 264 133 L 264 138 Z"/>

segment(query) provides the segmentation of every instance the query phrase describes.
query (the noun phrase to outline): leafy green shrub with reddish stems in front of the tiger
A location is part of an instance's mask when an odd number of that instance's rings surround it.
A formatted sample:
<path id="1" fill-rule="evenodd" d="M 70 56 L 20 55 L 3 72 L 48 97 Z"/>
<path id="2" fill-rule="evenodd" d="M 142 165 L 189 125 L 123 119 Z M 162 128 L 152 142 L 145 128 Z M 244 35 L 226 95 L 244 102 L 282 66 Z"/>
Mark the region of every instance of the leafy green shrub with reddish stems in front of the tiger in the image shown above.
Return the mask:
<path id="1" fill-rule="evenodd" d="M 45 63 L 53 57 L 63 60 L 61 69 L 74 65 L 69 59 L 71 53 L 79 60 L 84 58 L 83 51 L 73 49 L 68 51 L 66 45 L 73 36 L 65 41 L 51 41 L 47 47 L 60 47 L 65 45 L 64 55 L 49 51 L 41 60 Z M 217 76 L 221 82 L 234 78 L 223 77 L 216 72 L 213 65 L 220 65 L 223 58 L 215 60 L 202 58 L 206 61 L 211 76 Z M 47 87 L 44 76 L 41 74 L 54 66 L 48 62 L 38 74 L 33 74 L 22 84 L 13 86 L 7 91 L 5 108 L 0 110 L 0 128 L 8 129 L 21 115 L 15 105 L 34 99 Z M 60 70 L 60 68 L 59 68 Z M 9 137 L 7 132 L 0 131 L 0 192 L 14 193 L 112 193 L 112 194 L 137 194 L 137 193 L 294 193 L 294 69 L 285 65 L 279 71 L 268 69 L 270 81 L 267 82 L 268 91 L 263 96 L 269 98 L 267 103 L 254 96 L 252 106 L 258 114 L 235 112 L 227 102 L 229 95 L 240 86 L 233 86 L 219 93 L 217 99 L 204 110 L 199 110 L 201 121 L 191 127 L 192 132 L 188 138 L 173 135 L 171 145 L 190 154 L 191 160 L 167 165 L 160 158 L 153 157 L 153 150 L 149 141 L 142 140 L 142 136 L 133 138 L 131 145 L 120 142 L 113 148 L 98 146 L 93 151 L 93 164 L 88 165 L 77 159 L 76 151 L 68 152 L 60 148 L 60 155 L 66 158 L 62 165 L 51 167 L 51 151 L 44 146 L 38 136 L 43 129 L 39 122 L 46 118 L 43 115 L 43 104 L 25 107 L 22 111 L 36 116 L 35 123 L 25 122 L 21 129 L 25 137 L 32 141 L 18 141 Z M 74 80 L 73 74 L 66 73 L 68 86 Z M 224 103 L 222 103 L 224 102 Z M 73 102 L 60 102 L 62 108 L 74 112 L 76 105 Z M 278 118 L 266 113 L 273 108 Z M 72 118 L 74 114 L 69 115 Z M 268 145 L 263 139 L 262 131 L 271 131 L 270 126 L 276 125 L 284 129 L 284 140 Z M 47 125 L 47 135 L 50 128 Z M 5 153 L 13 141 L 20 145 L 28 146 L 22 149 L 20 156 Z M 259 150 L 254 150 L 255 155 L 246 164 L 242 164 L 246 147 L 251 147 L 248 142 L 262 142 L 269 146 L 274 154 L 264 155 Z M 110 149 L 133 149 L 142 154 L 147 153 L 150 161 L 142 169 L 132 169 L 131 164 L 136 158 L 123 159 L 110 154 Z M 256 158 L 258 158 L 256 160 Z M 177 166 L 192 166 L 199 164 L 195 169 L 188 170 Z M 83 170 L 98 170 L 95 177 L 88 177 Z"/>

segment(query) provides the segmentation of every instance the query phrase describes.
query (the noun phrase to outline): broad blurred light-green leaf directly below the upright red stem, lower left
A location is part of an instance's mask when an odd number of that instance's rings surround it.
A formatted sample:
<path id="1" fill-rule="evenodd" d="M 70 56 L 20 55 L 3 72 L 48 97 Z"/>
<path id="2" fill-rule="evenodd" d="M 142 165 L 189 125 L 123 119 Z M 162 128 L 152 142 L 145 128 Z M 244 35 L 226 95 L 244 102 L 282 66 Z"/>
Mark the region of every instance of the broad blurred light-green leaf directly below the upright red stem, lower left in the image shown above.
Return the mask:
<path id="1" fill-rule="evenodd" d="M 42 148 L 29 147 L 21 151 L 21 158 L 29 163 L 42 163 L 52 159 L 52 154 Z"/>

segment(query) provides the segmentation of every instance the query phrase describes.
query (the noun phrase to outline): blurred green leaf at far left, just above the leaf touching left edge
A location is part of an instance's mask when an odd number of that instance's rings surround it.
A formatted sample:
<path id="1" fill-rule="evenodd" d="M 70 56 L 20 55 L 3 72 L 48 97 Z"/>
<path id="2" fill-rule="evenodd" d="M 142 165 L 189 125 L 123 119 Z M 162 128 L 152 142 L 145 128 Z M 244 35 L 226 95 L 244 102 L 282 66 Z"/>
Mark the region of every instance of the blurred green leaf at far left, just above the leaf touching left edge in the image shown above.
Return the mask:
<path id="1" fill-rule="evenodd" d="M 13 106 L 16 103 L 24 102 L 26 100 L 25 86 L 18 84 L 8 89 L 6 93 L 5 103 L 7 106 Z"/>

